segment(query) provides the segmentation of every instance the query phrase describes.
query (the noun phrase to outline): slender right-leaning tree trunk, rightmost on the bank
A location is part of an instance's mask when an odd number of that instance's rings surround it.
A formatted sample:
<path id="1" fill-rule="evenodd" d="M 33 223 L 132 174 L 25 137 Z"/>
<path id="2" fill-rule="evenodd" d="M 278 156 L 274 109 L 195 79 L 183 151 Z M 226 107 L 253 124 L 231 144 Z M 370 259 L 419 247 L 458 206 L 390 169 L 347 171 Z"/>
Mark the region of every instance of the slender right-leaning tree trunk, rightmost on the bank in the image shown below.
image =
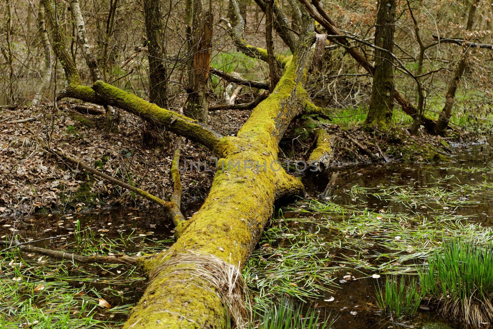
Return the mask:
<path id="1" fill-rule="evenodd" d="M 474 0 L 471 4 L 471 8 L 469 9 L 469 16 L 467 17 L 467 26 L 466 30 L 471 31 L 474 25 L 474 16 L 476 14 L 476 8 L 479 4 L 479 0 Z M 469 49 L 465 48 L 462 51 L 462 58 L 460 59 L 456 72 L 454 74 L 454 78 L 452 79 L 449 89 L 447 90 L 447 95 L 445 96 L 445 106 L 443 110 L 440 112 L 440 116 L 438 117 L 437 125 L 435 128 L 435 133 L 438 135 L 445 135 L 447 132 L 447 127 L 449 125 L 450 117 L 452 116 L 452 106 L 454 105 L 454 100 L 456 98 L 457 88 L 460 82 L 460 78 L 462 77 L 462 73 L 464 73 L 464 69 L 467 65 L 467 51 Z"/>

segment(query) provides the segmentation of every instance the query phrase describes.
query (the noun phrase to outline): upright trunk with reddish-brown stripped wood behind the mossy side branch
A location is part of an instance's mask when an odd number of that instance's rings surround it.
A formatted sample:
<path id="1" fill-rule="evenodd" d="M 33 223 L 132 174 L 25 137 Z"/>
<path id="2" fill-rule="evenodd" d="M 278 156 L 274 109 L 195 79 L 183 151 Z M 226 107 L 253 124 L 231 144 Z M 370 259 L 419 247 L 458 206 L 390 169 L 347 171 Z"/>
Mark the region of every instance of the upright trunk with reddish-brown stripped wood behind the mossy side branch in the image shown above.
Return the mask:
<path id="1" fill-rule="evenodd" d="M 207 123 L 209 75 L 212 48 L 212 4 L 206 10 L 203 0 L 193 0 L 193 59 L 189 68 L 189 90 L 185 115 Z"/>

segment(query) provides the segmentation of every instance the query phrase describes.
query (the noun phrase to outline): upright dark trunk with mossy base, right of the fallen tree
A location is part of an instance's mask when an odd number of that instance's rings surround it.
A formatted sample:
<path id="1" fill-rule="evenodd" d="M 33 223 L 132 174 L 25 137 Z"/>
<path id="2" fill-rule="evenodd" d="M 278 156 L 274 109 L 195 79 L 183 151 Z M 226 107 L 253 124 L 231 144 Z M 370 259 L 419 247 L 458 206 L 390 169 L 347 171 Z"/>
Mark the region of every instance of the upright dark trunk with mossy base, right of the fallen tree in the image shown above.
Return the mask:
<path id="1" fill-rule="evenodd" d="M 394 106 L 394 81 L 392 66 L 392 48 L 395 31 L 395 0 L 379 0 L 375 30 L 375 45 L 387 51 L 375 50 L 375 74 L 370 107 L 365 124 L 383 130 L 388 129 L 392 121 Z"/>

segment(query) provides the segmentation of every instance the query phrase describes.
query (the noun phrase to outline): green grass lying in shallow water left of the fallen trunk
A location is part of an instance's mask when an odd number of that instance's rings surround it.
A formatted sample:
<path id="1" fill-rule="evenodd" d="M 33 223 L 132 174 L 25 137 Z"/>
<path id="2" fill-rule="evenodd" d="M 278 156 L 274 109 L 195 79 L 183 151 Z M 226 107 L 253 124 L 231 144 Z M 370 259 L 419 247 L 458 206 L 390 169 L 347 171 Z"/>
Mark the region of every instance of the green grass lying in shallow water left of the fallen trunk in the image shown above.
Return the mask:
<path id="1" fill-rule="evenodd" d="M 81 255 L 153 253 L 172 241 L 138 234 L 108 238 L 94 229 L 70 240 L 51 240 L 57 250 Z M 19 238 L 19 237 L 17 237 Z M 3 249 L 3 246 L 1 249 Z M 135 266 L 78 264 L 47 256 L 0 252 L 1 328 L 119 328 L 138 301 L 145 277 Z"/>

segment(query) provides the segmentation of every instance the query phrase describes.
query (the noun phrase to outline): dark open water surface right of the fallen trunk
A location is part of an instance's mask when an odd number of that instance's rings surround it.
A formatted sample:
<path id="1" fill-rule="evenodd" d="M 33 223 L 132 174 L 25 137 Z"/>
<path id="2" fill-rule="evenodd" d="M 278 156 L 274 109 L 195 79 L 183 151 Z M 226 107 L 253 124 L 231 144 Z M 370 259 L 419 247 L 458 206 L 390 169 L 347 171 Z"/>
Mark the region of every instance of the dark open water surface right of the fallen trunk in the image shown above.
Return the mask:
<path id="1" fill-rule="evenodd" d="M 338 168 L 339 177 L 335 183 L 335 191 L 331 201 L 340 205 L 354 205 L 359 209 L 375 212 L 419 214 L 424 217 L 433 217 L 437 214 L 447 214 L 457 218 L 467 219 L 469 223 L 493 226 L 493 190 L 489 182 L 493 183 L 493 152 L 491 143 L 472 145 L 458 149 L 452 163 L 442 164 L 379 164 L 358 166 L 352 168 Z M 323 199 L 324 191 L 331 173 L 323 177 L 315 177 L 305 182 L 309 197 Z M 423 193 L 421 200 L 404 205 L 399 200 L 386 200 L 372 194 L 382 188 L 412 191 L 414 195 Z M 348 191 L 358 187 L 366 188 L 366 193 L 349 195 Z M 441 199 L 437 194 L 429 191 L 453 192 L 452 195 Z M 439 193 L 438 193 L 439 194 Z M 438 200 L 438 201 L 437 201 Z M 435 202 L 436 201 L 436 202 Z M 450 203 L 443 206 L 443 202 Z M 437 206 L 436 203 L 442 205 Z M 411 211 L 410 211 L 411 209 Z M 290 216 L 289 214 L 285 214 Z M 294 215 L 294 216 L 299 216 Z M 304 227 L 305 230 L 310 228 Z M 327 235 L 328 240 L 333 235 Z M 329 242 L 329 241 L 327 241 Z M 333 251 L 336 255 L 341 250 Z M 336 256 L 337 257 L 337 256 Z M 348 268 L 348 270 L 351 270 Z M 354 272 L 353 272 L 354 273 Z M 343 276 L 344 271 L 339 276 Z M 360 273 L 358 273 L 360 274 Z M 370 274 L 371 275 L 371 274 Z M 338 276 L 338 277 L 339 277 Z M 362 275 L 355 275 L 356 278 Z M 378 280 L 385 285 L 385 276 Z M 336 280 L 337 282 L 337 280 Z M 338 319 L 332 328 L 336 329 L 364 329 L 364 328 L 423 328 L 446 329 L 466 328 L 452 321 L 443 319 L 429 310 L 420 310 L 412 319 L 390 321 L 376 307 L 376 285 L 373 278 L 361 278 L 340 285 L 334 293 L 328 293 L 324 298 L 315 301 L 318 306 L 325 306 L 331 316 L 337 314 Z M 334 296 L 334 300 L 331 297 Z"/>

